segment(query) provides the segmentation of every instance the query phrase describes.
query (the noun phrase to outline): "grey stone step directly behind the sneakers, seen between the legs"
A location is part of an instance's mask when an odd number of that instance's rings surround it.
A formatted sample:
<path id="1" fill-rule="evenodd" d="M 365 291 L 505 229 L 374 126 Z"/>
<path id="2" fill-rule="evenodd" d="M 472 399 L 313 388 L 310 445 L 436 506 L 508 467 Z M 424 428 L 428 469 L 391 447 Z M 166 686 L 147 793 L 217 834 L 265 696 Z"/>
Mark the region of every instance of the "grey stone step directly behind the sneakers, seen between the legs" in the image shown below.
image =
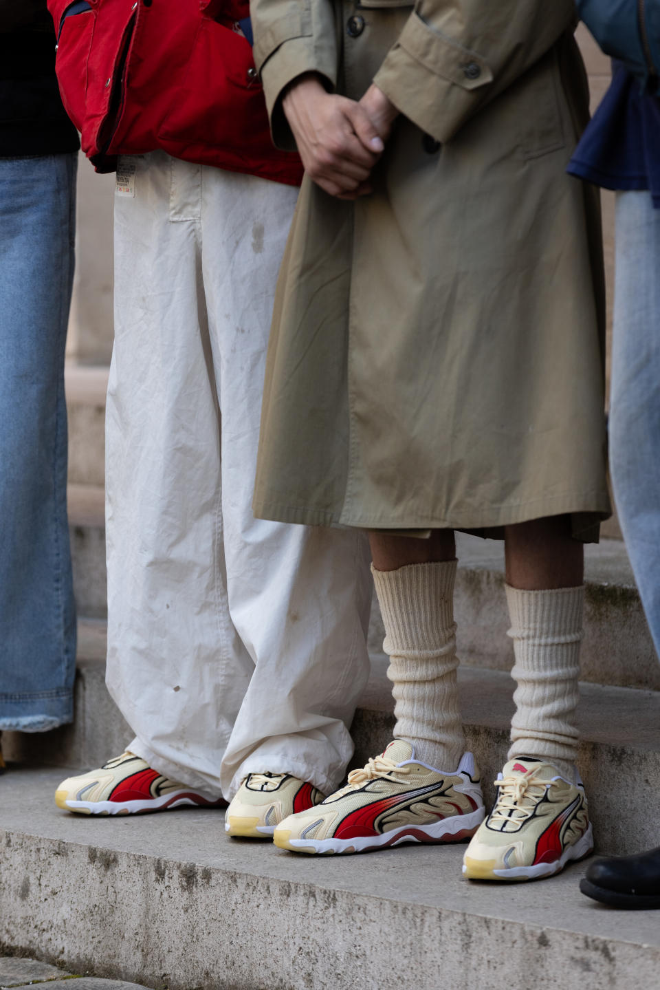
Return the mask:
<path id="1" fill-rule="evenodd" d="M 105 624 L 79 624 L 76 715 L 72 726 L 45 735 L 5 733 L 8 759 L 71 769 L 99 766 L 133 738 L 105 687 Z M 394 728 L 387 657 L 372 656 L 369 683 L 352 726 L 353 766 L 381 752 Z M 497 772 L 506 759 L 514 712 L 508 673 L 464 666 L 458 686 L 469 747 L 482 772 L 484 794 L 493 799 Z M 660 694 L 631 688 L 581 685 L 580 769 L 590 799 L 597 845 L 627 852 L 656 845 L 660 820 Z"/>

